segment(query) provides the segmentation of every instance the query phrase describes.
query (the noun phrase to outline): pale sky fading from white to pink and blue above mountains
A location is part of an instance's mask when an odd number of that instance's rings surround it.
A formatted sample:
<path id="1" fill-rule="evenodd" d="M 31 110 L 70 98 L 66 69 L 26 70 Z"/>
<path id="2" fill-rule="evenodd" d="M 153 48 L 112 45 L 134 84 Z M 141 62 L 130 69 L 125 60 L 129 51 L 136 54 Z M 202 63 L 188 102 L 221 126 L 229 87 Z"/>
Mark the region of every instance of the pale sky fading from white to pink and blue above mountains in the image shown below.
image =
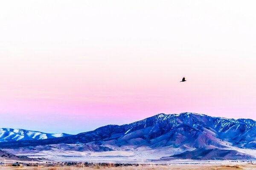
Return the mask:
<path id="1" fill-rule="evenodd" d="M 256 120 L 255 6 L 1 1 L 0 127 L 76 134 L 183 112 Z"/>

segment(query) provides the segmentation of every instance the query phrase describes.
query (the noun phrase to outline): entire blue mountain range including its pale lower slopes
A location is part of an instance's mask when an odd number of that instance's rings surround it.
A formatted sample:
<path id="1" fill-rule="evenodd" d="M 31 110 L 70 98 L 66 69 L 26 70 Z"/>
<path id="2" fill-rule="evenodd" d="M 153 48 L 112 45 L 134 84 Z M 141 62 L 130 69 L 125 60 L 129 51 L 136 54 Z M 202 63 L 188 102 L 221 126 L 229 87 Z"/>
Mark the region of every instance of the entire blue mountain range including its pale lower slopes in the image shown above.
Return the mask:
<path id="1" fill-rule="evenodd" d="M 16 133 L 17 130 L 2 131 Z M 58 159 L 72 156 L 72 159 L 122 160 L 125 157 L 152 161 L 254 159 L 256 156 L 256 121 L 196 113 L 161 113 L 131 124 L 107 125 L 77 135 L 20 131 L 26 132 L 17 133 L 24 137 L 11 135 L 6 142 L 1 137 L 0 148 L 23 156 L 44 155 L 47 159 L 56 155 L 62 156 Z M 27 135 L 37 133 L 41 137 Z"/>

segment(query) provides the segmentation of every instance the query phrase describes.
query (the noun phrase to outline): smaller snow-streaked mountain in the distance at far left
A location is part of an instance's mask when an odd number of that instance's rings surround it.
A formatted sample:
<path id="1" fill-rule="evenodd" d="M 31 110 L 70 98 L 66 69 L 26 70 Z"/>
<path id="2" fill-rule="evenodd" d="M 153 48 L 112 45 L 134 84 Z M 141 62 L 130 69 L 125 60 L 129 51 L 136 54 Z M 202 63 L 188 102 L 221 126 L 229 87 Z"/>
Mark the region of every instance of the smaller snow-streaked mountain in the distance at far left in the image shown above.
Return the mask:
<path id="1" fill-rule="evenodd" d="M 0 142 L 12 142 L 21 140 L 40 140 L 56 137 L 70 136 L 66 133 L 42 133 L 24 129 L 0 128 Z"/>

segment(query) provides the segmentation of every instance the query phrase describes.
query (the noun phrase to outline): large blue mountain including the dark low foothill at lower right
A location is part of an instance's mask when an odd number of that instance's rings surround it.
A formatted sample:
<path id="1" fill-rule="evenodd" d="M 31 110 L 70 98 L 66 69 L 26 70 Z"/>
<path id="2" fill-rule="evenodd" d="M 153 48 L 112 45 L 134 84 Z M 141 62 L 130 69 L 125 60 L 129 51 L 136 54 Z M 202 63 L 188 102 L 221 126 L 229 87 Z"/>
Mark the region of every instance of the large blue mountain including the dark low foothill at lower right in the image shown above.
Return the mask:
<path id="1" fill-rule="evenodd" d="M 65 151 L 74 149 L 84 152 L 117 150 L 157 150 L 176 155 L 171 159 L 189 158 L 188 152 L 199 152 L 202 159 L 251 159 L 253 156 L 237 150 L 250 149 L 256 155 L 256 122 L 251 119 L 226 119 L 196 113 L 158 114 L 127 125 L 107 125 L 96 130 L 43 140 L 0 142 L 0 148 L 18 148 L 67 144 Z M 207 149 L 207 147 L 214 149 Z M 230 149 L 231 148 L 231 149 Z M 49 149 L 49 148 L 47 148 Z M 199 149 L 199 150 L 198 150 Z M 42 150 L 42 148 L 40 148 Z M 58 148 L 57 150 L 60 150 Z M 166 151 L 164 151 L 166 150 Z M 186 152 L 186 153 L 185 153 Z M 182 155 L 178 155 L 181 154 Z M 198 154 L 199 154 L 198 153 Z M 205 157 L 204 153 L 208 153 Z M 219 156 L 217 153 L 221 153 Z M 217 154 L 217 155 L 216 155 Z M 212 158 L 211 158 L 212 156 Z M 215 157 L 214 157 L 215 156 Z M 163 157 L 163 156 L 160 156 Z M 195 159 L 191 157 L 191 159 Z"/>

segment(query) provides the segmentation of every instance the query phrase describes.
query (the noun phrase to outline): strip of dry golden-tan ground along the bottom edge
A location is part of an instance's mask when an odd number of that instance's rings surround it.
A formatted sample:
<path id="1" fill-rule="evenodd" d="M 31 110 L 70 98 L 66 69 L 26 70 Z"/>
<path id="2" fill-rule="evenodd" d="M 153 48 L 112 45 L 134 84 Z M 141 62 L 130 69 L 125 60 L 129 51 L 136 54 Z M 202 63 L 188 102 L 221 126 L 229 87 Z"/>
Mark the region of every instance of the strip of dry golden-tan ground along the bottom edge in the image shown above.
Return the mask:
<path id="1" fill-rule="evenodd" d="M 128 166 L 128 167 L 46 167 L 46 166 L 31 166 L 31 167 L 12 167 L 0 166 L 1 170 L 255 170 L 255 164 L 173 164 L 173 165 L 143 165 L 143 166 Z"/>

